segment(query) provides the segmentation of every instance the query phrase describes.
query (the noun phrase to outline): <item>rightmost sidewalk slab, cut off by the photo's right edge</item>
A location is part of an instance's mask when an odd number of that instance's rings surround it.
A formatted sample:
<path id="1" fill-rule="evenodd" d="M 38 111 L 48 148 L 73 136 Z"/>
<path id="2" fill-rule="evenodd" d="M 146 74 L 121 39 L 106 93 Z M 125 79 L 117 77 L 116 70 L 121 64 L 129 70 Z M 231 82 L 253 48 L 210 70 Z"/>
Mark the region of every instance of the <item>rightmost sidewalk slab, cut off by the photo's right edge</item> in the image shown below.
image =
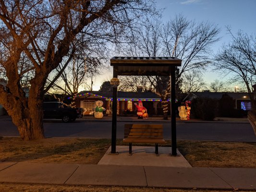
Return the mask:
<path id="1" fill-rule="evenodd" d="M 210 168 L 234 189 L 256 190 L 256 168 Z"/>

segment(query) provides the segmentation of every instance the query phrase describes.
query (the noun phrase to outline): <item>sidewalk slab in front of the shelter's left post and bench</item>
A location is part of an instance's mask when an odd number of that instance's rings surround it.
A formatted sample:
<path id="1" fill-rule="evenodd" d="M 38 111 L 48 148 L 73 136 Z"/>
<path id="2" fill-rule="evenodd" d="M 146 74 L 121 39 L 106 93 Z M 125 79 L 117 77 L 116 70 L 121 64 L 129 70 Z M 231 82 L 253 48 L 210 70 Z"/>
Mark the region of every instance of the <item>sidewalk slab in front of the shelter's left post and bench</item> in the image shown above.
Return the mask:
<path id="1" fill-rule="evenodd" d="M 146 175 L 140 166 L 79 165 L 66 184 L 146 187 Z"/>

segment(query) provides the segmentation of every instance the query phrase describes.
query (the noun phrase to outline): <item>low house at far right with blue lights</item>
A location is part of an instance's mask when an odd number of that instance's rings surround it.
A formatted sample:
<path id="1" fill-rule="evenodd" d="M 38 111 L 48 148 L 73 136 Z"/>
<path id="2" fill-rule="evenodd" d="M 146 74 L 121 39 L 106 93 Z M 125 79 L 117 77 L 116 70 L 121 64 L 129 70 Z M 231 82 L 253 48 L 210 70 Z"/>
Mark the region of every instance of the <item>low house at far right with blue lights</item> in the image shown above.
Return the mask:
<path id="1" fill-rule="evenodd" d="M 208 97 L 212 99 L 219 100 L 221 97 L 227 94 L 231 96 L 235 100 L 235 108 L 236 109 L 243 109 L 243 110 L 251 110 L 252 104 L 248 93 L 240 93 L 240 92 L 191 92 L 189 93 L 183 100 L 190 100 L 192 101 L 194 98 L 197 97 Z"/>

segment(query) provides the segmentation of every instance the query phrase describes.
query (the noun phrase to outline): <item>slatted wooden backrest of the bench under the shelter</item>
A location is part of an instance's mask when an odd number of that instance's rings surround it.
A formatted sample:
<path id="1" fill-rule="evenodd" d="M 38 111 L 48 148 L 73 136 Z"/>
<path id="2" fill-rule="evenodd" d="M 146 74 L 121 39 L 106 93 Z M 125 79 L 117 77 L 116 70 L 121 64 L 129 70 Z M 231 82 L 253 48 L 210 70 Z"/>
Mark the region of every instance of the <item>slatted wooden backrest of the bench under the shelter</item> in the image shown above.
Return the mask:
<path id="1" fill-rule="evenodd" d="M 163 125 L 125 124 L 124 138 L 163 138 Z"/>

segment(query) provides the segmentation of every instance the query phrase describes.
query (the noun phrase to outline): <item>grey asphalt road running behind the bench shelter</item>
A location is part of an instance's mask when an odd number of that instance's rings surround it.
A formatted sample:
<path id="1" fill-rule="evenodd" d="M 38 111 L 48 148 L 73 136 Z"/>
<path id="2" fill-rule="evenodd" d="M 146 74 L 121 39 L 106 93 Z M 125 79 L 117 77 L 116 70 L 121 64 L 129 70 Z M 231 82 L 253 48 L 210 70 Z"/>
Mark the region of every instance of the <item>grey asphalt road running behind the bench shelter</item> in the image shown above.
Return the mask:
<path id="1" fill-rule="evenodd" d="M 118 121 L 117 138 L 123 138 L 124 124 L 145 123 Z M 147 122 L 163 124 L 164 139 L 171 139 L 171 122 Z M 111 138 L 111 121 L 44 121 L 46 137 Z M 0 136 L 19 136 L 11 120 L 0 120 Z M 228 122 L 177 122 L 177 140 L 243 141 L 256 142 L 250 123 Z"/>

